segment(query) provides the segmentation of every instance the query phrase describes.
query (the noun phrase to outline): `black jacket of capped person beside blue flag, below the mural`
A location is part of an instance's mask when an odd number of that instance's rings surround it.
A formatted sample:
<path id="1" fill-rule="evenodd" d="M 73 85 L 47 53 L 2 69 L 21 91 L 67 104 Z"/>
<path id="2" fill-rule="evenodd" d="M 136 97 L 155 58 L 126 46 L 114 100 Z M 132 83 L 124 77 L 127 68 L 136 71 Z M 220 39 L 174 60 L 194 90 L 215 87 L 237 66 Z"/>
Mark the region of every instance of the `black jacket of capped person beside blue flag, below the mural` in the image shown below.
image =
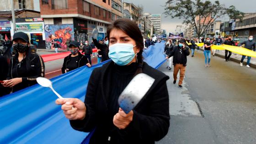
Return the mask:
<path id="1" fill-rule="evenodd" d="M 79 58 L 78 58 L 79 61 L 77 63 L 77 68 L 80 68 L 80 67 L 84 66 L 85 64 L 89 63 L 88 60 L 86 59 L 86 57 L 83 54 L 81 54 L 80 52 L 78 52 L 78 56 L 79 56 Z M 62 68 L 61 68 L 62 74 L 64 74 L 65 69 L 67 69 L 67 64 L 70 61 L 70 57 L 71 57 L 71 53 L 64 58 L 64 62 L 63 62 Z"/>

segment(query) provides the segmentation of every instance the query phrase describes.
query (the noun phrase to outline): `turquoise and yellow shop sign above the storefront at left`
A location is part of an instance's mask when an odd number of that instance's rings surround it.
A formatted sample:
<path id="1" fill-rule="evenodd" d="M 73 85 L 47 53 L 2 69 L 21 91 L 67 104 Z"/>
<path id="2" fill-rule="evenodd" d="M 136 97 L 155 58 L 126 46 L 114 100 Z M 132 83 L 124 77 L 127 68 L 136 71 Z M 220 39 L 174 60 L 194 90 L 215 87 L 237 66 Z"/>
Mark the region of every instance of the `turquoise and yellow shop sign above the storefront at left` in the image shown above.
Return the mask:
<path id="1" fill-rule="evenodd" d="M 43 32 L 43 24 L 16 24 L 17 32 Z"/>

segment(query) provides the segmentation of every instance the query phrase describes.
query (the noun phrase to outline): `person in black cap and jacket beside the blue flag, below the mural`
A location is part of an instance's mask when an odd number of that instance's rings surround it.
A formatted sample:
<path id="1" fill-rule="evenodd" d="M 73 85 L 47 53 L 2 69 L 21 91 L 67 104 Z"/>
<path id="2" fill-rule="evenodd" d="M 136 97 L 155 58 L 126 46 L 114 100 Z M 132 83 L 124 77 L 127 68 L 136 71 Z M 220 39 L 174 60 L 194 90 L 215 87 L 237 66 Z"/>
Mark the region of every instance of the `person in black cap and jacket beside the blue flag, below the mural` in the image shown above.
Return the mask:
<path id="1" fill-rule="evenodd" d="M 80 68 L 84 65 L 91 67 L 87 58 L 79 52 L 79 43 L 71 41 L 69 44 L 70 54 L 64 58 L 63 66 L 61 68 L 62 74 L 67 73 L 71 70 Z"/>

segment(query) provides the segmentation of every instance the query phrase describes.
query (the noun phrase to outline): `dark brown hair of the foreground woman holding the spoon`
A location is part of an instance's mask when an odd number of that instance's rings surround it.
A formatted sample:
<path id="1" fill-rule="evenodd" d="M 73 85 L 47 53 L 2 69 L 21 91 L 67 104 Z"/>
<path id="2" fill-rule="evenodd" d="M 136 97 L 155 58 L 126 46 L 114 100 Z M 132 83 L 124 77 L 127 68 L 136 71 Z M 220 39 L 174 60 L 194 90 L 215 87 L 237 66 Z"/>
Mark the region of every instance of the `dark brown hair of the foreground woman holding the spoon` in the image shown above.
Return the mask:
<path id="1" fill-rule="evenodd" d="M 118 19 L 114 21 L 108 28 L 107 28 L 107 38 L 109 39 L 110 32 L 113 29 L 120 29 L 124 33 L 126 33 L 129 37 L 131 37 L 135 43 L 136 46 L 140 49 L 139 53 L 137 53 L 137 60 L 139 63 L 139 68 L 137 69 L 135 75 L 142 73 L 142 66 L 143 66 L 143 57 L 142 52 L 144 48 L 144 42 L 143 37 L 141 35 L 141 32 L 139 30 L 139 27 L 137 24 L 130 19 Z"/>

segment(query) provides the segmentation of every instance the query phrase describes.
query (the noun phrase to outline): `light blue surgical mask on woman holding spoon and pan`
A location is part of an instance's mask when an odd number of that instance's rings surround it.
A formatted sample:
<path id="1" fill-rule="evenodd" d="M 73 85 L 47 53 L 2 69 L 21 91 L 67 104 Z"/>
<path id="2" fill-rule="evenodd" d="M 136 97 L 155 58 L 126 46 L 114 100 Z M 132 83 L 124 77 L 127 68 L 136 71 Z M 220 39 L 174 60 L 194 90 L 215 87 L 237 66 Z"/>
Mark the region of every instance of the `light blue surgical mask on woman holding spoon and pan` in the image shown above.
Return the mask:
<path id="1" fill-rule="evenodd" d="M 133 47 L 135 46 L 129 43 L 115 43 L 109 47 L 108 56 L 117 65 L 127 65 L 135 57 L 133 51 Z"/>

